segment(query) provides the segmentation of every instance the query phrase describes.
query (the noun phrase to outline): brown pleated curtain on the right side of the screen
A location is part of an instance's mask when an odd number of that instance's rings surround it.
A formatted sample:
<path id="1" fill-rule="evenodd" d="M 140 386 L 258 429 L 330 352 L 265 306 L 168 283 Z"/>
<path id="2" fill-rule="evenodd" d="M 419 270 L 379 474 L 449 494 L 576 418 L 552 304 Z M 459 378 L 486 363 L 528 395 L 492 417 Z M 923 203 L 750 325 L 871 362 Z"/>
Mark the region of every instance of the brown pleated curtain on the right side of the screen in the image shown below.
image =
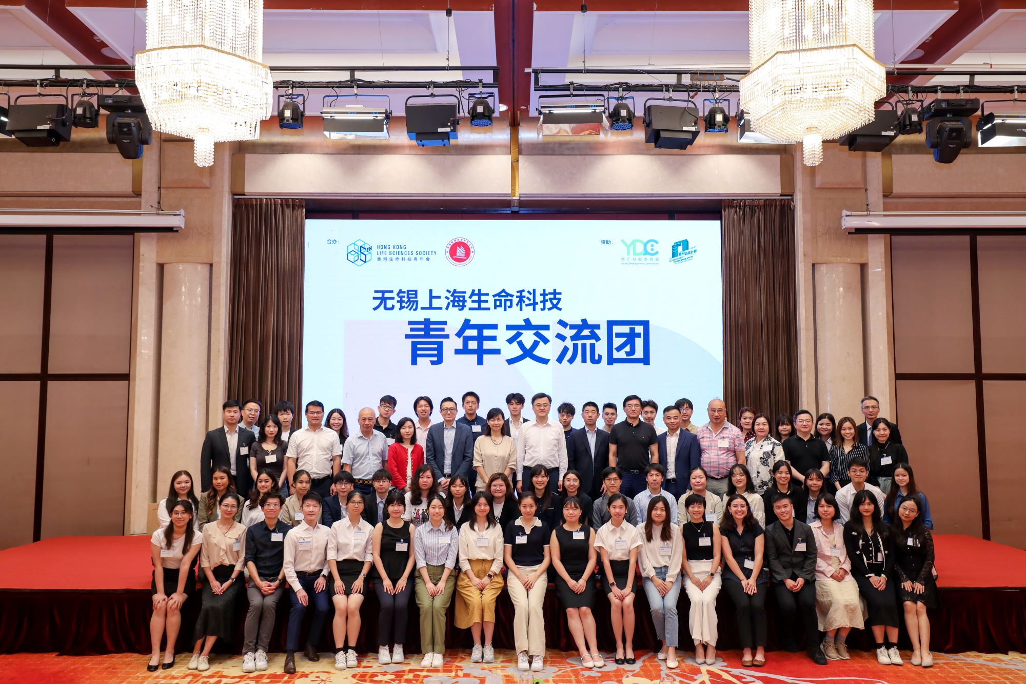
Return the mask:
<path id="1" fill-rule="evenodd" d="M 794 203 L 723 202 L 723 401 L 727 417 L 749 406 L 791 414 L 798 403 Z"/>

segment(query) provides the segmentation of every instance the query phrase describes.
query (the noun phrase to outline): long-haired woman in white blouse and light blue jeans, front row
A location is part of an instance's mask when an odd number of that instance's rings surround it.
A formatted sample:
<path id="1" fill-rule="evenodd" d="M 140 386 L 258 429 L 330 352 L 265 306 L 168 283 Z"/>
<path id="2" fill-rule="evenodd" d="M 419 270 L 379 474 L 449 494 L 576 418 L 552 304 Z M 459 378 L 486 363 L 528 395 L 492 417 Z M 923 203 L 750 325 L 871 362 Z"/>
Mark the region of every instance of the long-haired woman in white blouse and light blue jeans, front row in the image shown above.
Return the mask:
<path id="1" fill-rule="evenodd" d="M 666 500 L 662 496 L 648 501 L 638 565 L 641 568 L 645 597 L 656 625 L 656 637 L 663 642 L 657 657 L 666 660 L 671 670 L 677 667 L 677 646 L 680 626 L 677 621 L 677 597 L 683 581 L 680 567 L 684 560 L 680 528 L 668 520 Z"/>

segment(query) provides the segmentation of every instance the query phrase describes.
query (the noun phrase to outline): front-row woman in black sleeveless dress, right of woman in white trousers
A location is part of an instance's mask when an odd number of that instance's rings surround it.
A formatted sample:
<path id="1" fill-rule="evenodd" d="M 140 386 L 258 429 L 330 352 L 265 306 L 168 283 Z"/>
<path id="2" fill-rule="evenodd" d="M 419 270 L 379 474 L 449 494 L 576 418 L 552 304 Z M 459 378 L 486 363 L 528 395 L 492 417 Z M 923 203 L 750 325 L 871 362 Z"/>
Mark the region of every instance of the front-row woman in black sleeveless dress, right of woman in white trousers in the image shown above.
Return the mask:
<path id="1" fill-rule="evenodd" d="M 560 517 L 564 522 L 552 531 L 549 553 L 556 570 L 556 595 L 566 609 L 566 623 L 581 653 L 581 664 L 601 668 L 605 662 L 598 652 L 595 618 L 591 614 L 598 556 L 595 531 L 581 520 L 584 514 L 585 507 L 578 497 L 563 501 Z"/>

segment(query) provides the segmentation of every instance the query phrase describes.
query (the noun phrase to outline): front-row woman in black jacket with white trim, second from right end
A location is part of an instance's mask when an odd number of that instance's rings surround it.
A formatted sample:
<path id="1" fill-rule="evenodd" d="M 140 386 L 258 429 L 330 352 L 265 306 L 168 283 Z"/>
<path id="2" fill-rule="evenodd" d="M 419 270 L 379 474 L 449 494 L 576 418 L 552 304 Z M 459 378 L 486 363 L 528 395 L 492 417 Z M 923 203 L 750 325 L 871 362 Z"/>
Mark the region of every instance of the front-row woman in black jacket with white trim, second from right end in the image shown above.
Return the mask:
<path id="1" fill-rule="evenodd" d="M 876 496 L 868 489 L 852 500 L 852 520 L 844 523 L 844 547 L 852 561 L 852 576 L 866 600 L 876 661 L 900 666 L 898 597 L 887 579 L 894 569 L 894 535 L 883 524 Z"/>

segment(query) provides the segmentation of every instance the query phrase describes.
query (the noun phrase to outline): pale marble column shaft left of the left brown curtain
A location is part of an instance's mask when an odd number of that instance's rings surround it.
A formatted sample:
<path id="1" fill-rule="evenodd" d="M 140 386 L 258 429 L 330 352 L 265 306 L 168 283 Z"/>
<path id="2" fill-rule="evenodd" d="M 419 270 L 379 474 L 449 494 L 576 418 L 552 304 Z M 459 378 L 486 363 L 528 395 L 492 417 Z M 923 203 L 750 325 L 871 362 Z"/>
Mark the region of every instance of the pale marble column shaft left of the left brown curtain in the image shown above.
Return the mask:
<path id="1" fill-rule="evenodd" d="M 156 499 L 175 470 L 199 490 L 199 452 L 207 428 L 210 264 L 164 264 L 160 337 L 160 413 Z"/>

